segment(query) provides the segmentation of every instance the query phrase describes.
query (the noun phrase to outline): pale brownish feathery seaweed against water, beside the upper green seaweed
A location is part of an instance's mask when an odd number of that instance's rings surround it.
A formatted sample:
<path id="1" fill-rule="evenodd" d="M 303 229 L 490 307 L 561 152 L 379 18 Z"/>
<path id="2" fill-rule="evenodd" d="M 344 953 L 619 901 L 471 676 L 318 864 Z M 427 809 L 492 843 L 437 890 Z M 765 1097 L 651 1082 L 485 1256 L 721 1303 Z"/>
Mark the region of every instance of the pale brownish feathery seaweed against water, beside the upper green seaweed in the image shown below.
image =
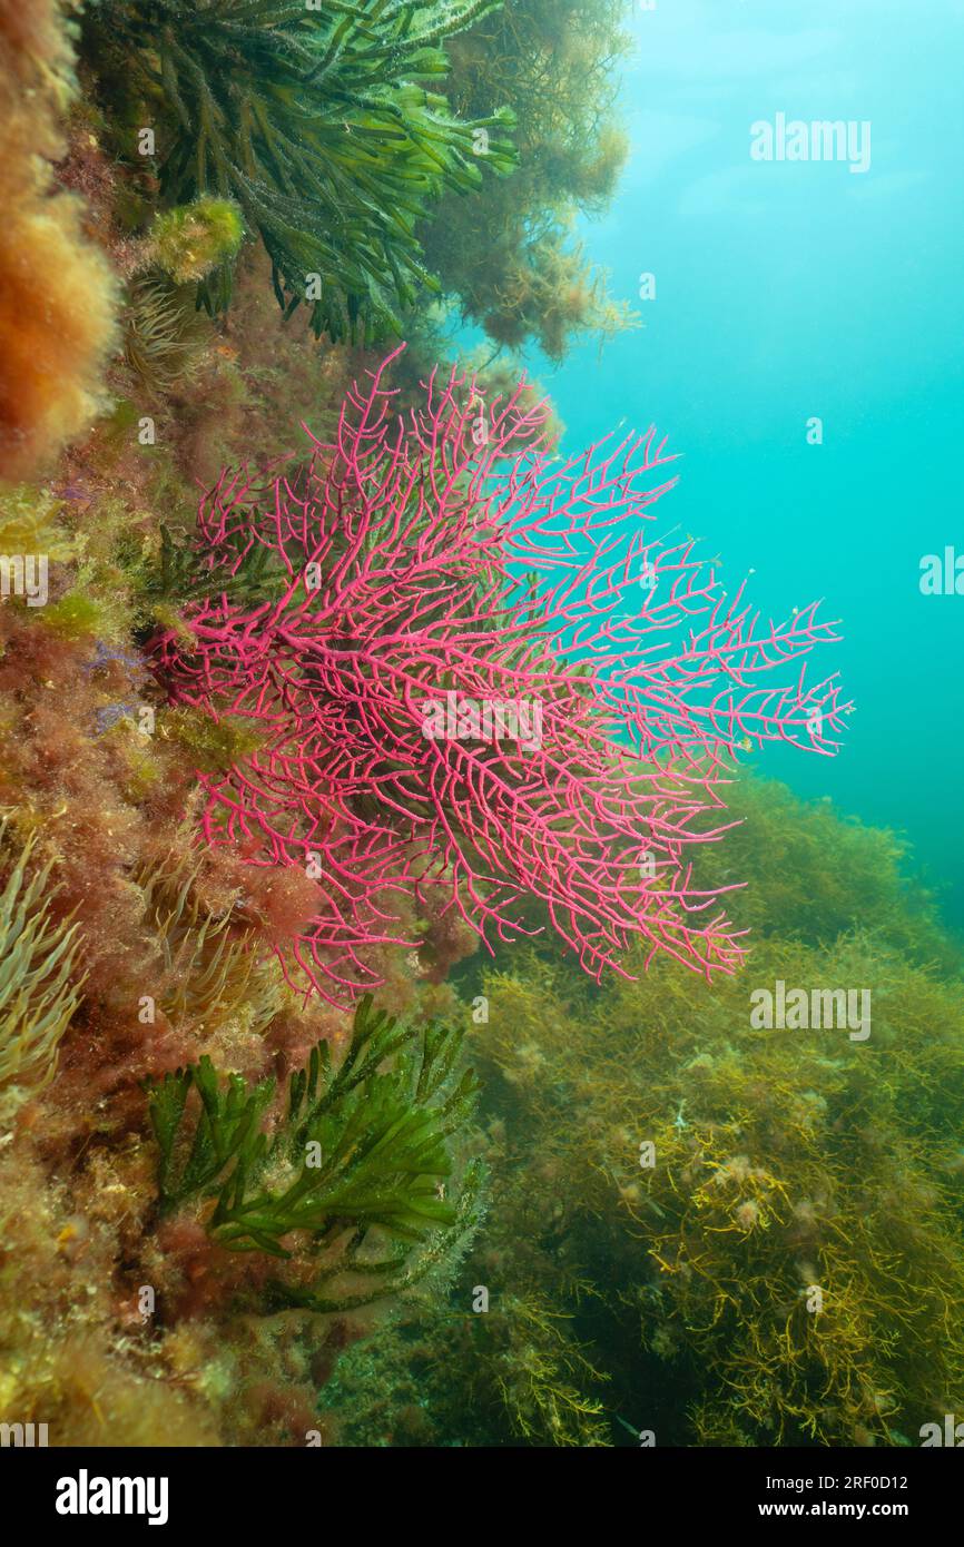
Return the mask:
<path id="1" fill-rule="evenodd" d="M 573 238 L 599 215 L 627 155 L 616 104 L 631 46 L 625 0 L 509 0 L 450 39 L 449 101 L 475 118 L 508 104 L 518 166 L 472 200 L 443 195 L 422 221 L 426 258 L 463 316 L 506 348 L 538 343 L 562 359 L 573 340 L 633 326 Z"/>

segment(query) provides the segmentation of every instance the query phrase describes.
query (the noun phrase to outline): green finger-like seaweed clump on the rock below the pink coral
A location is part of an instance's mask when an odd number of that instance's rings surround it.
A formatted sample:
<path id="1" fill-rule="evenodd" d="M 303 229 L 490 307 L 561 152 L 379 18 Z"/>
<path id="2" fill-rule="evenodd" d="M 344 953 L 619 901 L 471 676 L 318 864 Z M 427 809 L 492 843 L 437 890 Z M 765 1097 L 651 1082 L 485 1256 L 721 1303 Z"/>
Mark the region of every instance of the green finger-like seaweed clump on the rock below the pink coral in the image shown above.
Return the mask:
<path id="1" fill-rule="evenodd" d="M 193 1208 L 218 1245 L 285 1262 L 271 1309 L 344 1312 L 410 1289 L 478 1217 L 477 1163 L 446 1196 L 449 1140 L 475 1100 L 460 1046 L 458 1032 L 399 1024 L 365 998 L 344 1058 L 319 1043 L 283 1112 L 272 1078 L 220 1077 L 209 1058 L 152 1083 L 161 1217 Z"/>

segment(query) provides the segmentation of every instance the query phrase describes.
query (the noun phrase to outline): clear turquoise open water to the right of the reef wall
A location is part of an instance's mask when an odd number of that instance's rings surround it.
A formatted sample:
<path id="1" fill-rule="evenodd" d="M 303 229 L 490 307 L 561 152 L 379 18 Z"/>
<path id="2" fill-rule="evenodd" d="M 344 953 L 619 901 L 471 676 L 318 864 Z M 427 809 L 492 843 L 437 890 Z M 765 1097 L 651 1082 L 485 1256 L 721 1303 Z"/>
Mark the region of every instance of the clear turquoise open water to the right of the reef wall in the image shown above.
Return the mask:
<path id="1" fill-rule="evenodd" d="M 644 328 L 532 359 L 576 450 L 625 418 L 684 453 L 665 524 L 755 569 L 766 616 L 826 599 L 857 713 L 836 760 L 757 760 L 911 838 L 964 924 L 964 5 L 659 0 L 625 65 L 631 155 L 586 246 Z M 870 122 L 870 169 L 750 158 L 750 125 Z M 656 299 L 638 300 L 641 274 Z M 808 444 L 808 421 L 823 444 Z"/>

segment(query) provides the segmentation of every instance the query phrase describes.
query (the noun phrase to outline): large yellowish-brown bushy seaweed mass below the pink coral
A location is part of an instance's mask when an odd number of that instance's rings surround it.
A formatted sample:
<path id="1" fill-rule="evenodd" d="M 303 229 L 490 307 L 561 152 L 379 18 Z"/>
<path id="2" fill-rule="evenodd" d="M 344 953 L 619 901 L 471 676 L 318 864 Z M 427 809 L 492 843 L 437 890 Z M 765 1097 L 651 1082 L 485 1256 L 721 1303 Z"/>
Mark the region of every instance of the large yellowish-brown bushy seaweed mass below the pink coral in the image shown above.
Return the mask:
<path id="1" fill-rule="evenodd" d="M 733 976 L 636 953 L 594 990 L 517 948 L 473 985 L 486 1231 L 447 1307 L 347 1357 L 323 1400 L 354 1443 L 404 1443 L 413 1361 L 419 1443 L 899 1446 L 959 1409 L 959 951 L 887 834 L 755 780 L 733 804 L 738 917 L 769 903 L 775 823 L 797 860 Z M 842 855 L 848 916 L 802 914 Z M 754 1029 L 778 978 L 868 989 L 867 1041 Z"/>

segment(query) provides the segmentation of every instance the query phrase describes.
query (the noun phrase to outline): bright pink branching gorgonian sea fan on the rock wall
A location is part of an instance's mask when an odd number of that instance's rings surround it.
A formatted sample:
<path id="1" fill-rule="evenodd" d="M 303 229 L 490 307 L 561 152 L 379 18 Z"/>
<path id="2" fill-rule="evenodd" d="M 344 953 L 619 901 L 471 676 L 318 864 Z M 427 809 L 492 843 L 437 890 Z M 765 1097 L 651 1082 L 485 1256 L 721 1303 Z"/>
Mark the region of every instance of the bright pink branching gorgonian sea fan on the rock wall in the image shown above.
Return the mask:
<path id="1" fill-rule="evenodd" d="M 260 738 L 200 775 L 207 842 L 319 879 L 294 958 L 334 1002 L 373 984 L 373 947 L 418 944 L 413 911 L 492 947 L 532 927 L 526 899 L 596 976 L 639 936 L 732 968 L 687 854 L 726 828 L 738 746 L 836 750 L 848 705 L 803 665 L 832 625 L 761 623 L 692 540 L 651 535 L 675 481 L 655 430 L 560 459 L 521 384 L 433 377 L 399 415 L 390 359 L 333 444 L 201 504 L 193 644 L 162 634 L 155 667 Z"/>

